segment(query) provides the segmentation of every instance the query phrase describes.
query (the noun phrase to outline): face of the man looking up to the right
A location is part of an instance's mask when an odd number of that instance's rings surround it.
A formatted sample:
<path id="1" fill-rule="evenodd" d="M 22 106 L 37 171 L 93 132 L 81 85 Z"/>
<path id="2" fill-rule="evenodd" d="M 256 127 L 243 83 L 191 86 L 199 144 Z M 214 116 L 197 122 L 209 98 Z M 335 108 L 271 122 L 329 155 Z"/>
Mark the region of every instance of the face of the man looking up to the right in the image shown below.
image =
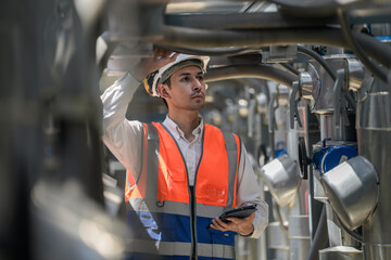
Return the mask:
<path id="1" fill-rule="evenodd" d="M 166 88 L 171 109 L 199 110 L 205 103 L 205 82 L 198 66 L 178 69 L 171 77 L 171 89 Z"/>

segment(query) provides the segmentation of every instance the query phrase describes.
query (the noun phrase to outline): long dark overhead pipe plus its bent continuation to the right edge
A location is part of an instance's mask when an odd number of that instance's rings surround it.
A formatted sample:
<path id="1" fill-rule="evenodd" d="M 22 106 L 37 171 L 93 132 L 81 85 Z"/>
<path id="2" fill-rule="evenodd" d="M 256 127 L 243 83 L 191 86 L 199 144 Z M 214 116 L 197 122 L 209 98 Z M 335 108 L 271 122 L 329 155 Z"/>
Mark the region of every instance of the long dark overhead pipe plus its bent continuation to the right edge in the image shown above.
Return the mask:
<path id="1" fill-rule="evenodd" d="M 377 39 L 352 31 L 366 53 L 386 66 L 391 65 L 391 48 Z M 297 43 L 317 43 L 351 49 L 341 30 L 332 27 L 262 29 L 262 30 L 211 30 L 177 26 L 163 26 L 164 38 L 155 44 L 166 48 L 260 48 Z M 205 49 L 204 51 L 211 51 Z"/>

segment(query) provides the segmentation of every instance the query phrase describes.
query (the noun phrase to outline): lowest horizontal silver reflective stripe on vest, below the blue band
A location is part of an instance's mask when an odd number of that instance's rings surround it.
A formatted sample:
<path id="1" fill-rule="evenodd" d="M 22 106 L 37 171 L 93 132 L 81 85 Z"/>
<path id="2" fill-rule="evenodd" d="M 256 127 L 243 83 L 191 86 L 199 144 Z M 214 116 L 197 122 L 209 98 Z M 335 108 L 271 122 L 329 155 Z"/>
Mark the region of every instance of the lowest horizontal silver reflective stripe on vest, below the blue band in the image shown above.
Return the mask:
<path id="1" fill-rule="evenodd" d="M 234 246 L 199 243 L 197 247 L 199 257 L 235 258 Z M 160 256 L 190 256 L 191 243 L 128 239 L 126 243 L 126 250 L 129 252 L 143 252 Z"/>

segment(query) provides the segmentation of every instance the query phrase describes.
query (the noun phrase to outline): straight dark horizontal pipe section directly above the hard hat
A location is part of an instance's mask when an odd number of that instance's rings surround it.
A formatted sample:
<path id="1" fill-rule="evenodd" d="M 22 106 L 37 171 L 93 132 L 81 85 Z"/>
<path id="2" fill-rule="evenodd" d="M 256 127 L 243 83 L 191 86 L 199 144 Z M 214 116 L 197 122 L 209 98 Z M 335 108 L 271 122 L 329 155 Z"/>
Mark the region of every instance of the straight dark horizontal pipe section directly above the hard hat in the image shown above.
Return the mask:
<path id="1" fill-rule="evenodd" d="M 164 26 L 164 38 L 154 43 L 181 48 L 268 47 L 275 44 L 323 43 L 348 47 L 340 29 L 330 27 L 212 30 Z"/>

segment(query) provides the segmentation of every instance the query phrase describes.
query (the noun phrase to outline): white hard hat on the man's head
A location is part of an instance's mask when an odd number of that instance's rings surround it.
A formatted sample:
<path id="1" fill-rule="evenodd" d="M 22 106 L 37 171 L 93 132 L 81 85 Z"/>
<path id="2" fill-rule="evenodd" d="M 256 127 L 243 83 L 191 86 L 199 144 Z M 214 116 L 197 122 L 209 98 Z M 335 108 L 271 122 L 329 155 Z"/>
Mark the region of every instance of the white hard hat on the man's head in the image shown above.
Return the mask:
<path id="1" fill-rule="evenodd" d="M 205 73 L 209 61 L 209 56 L 179 54 L 174 62 L 148 75 L 143 81 L 144 88 L 150 95 L 160 96 L 156 87 L 167 80 L 175 72 L 187 66 L 199 66 Z"/>

